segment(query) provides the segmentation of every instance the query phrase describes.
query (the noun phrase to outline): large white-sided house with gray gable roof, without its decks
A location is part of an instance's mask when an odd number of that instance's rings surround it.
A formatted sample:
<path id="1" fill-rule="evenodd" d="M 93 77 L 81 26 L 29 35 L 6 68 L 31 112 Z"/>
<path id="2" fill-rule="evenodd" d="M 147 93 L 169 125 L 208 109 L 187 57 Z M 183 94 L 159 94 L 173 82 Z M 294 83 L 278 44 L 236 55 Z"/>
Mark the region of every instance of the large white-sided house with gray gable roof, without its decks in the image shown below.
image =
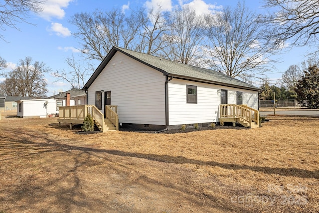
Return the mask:
<path id="1" fill-rule="evenodd" d="M 119 123 L 152 129 L 218 122 L 220 104 L 258 109 L 259 88 L 214 70 L 113 47 L 84 85 L 88 104 L 117 105 Z"/>

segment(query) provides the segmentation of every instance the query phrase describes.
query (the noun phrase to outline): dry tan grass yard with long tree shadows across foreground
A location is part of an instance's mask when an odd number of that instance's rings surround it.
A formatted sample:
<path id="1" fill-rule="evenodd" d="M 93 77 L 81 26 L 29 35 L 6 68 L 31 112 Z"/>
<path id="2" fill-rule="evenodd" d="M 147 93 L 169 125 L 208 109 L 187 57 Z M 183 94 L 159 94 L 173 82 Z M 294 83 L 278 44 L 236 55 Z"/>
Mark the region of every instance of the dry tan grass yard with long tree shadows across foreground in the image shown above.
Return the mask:
<path id="1" fill-rule="evenodd" d="M 1 115 L 0 213 L 319 212 L 319 118 L 81 135 Z"/>

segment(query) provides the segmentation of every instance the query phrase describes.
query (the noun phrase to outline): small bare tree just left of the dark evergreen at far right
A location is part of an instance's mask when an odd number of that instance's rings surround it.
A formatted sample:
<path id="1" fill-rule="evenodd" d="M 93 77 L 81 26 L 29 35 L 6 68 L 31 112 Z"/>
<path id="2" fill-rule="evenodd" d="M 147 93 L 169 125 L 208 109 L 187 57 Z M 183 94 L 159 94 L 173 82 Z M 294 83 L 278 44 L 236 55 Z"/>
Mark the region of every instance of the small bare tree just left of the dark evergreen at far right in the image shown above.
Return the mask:
<path id="1" fill-rule="evenodd" d="M 291 65 L 282 75 L 282 86 L 284 86 L 289 91 L 294 91 L 298 80 L 301 79 L 302 71 L 299 65 Z"/>

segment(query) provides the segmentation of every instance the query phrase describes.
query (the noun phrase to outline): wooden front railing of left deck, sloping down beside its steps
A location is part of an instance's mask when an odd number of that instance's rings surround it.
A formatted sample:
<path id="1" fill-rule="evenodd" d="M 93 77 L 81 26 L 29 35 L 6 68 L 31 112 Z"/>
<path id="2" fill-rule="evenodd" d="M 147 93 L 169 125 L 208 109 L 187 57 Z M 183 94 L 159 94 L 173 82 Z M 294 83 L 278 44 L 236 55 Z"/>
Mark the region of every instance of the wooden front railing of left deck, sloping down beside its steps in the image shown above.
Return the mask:
<path id="1" fill-rule="evenodd" d="M 59 107 L 59 119 L 84 120 L 88 114 L 92 116 L 99 129 L 104 131 L 104 115 L 95 105 Z"/>

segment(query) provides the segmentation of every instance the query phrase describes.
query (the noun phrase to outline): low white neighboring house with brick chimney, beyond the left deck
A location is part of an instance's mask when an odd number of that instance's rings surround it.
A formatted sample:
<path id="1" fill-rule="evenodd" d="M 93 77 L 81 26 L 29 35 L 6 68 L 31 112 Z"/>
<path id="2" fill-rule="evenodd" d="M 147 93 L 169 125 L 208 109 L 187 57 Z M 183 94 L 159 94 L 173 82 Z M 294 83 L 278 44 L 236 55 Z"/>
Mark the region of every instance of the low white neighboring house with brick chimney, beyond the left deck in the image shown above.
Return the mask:
<path id="1" fill-rule="evenodd" d="M 19 100 L 17 116 L 23 118 L 40 117 L 45 118 L 49 115 L 57 115 L 60 106 L 74 106 L 75 96 L 86 95 L 83 90 L 71 89 L 45 99 Z"/>

